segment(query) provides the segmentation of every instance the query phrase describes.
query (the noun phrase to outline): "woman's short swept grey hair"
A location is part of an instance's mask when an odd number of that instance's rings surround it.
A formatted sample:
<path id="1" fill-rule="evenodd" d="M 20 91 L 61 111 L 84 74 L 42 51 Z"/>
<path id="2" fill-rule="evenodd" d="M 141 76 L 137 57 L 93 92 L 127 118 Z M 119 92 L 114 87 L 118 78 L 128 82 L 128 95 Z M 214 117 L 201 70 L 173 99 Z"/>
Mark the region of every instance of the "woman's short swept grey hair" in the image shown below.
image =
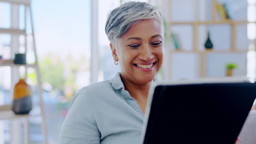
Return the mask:
<path id="1" fill-rule="evenodd" d="M 127 2 L 120 5 L 108 15 L 105 26 L 108 40 L 115 43 L 115 39 L 122 37 L 127 29 L 147 19 L 159 21 L 164 28 L 160 10 L 153 5 L 145 2 Z"/>

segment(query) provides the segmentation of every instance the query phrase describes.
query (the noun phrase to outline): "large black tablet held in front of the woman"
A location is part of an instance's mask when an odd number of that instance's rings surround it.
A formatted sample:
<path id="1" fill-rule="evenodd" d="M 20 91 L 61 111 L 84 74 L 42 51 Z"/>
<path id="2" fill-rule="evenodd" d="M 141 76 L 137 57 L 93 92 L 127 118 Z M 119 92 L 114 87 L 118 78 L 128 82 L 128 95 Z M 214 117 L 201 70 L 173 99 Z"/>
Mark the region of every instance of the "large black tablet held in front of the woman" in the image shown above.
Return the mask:
<path id="1" fill-rule="evenodd" d="M 156 83 L 142 143 L 234 144 L 256 97 L 248 79 Z"/>

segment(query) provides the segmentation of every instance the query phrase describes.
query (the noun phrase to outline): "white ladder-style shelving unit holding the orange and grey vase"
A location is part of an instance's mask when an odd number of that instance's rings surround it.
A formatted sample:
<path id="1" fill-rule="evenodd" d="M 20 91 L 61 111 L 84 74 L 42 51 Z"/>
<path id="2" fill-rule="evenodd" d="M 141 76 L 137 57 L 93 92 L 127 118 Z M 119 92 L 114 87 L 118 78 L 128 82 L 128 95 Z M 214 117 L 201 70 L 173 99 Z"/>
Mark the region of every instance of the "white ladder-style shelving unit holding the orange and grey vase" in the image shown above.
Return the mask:
<path id="1" fill-rule="evenodd" d="M 37 117 L 39 116 L 42 118 L 42 134 L 44 138 L 44 144 L 48 143 L 48 133 L 47 133 L 47 128 L 46 128 L 46 117 L 45 117 L 45 112 L 44 112 L 44 103 L 43 103 L 43 96 L 42 96 L 42 81 L 40 78 L 40 71 L 39 71 L 39 66 L 38 66 L 38 59 L 37 59 L 37 51 L 36 51 L 36 41 L 34 38 L 34 29 L 33 29 L 33 19 L 32 19 L 32 10 L 31 10 L 31 1 L 30 0 L 0 0 L 0 2 L 3 3 L 9 3 L 11 5 L 15 6 L 20 6 L 24 5 L 24 22 L 25 22 L 25 28 L 24 29 L 19 29 L 19 28 L 0 28 L 0 34 L 8 34 L 11 36 L 20 36 L 24 35 L 25 37 L 25 53 L 27 52 L 27 21 L 31 22 L 31 30 L 32 30 L 32 39 L 33 39 L 33 53 L 34 53 L 34 58 L 35 62 L 34 64 L 14 64 L 13 60 L 10 59 L 1 59 L 0 60 L 0 67 L 10 67 L 12 70 L 14 68 L 19 68 L 19 67 L 25 67 L 27 68 L 33 68 L 36 70 L 36 76 L 37 76 L 37 89 L 38 89 L 38 97 L 39 97 L 39 107 L 40 107 L 40 113 L 39 115 L 32 115 L 32 114 L 27 114 L 27 115 L 15 115 L 13 111 L 11 111 L 11 104 L 10 105 L 0 105 L 0 121 L 15 121 L 15 122 L 21 122 L 24 125 L 24 143 L 27 144 L 29 143 L 29 118 L 31 117 Z M 27 15 L 30 15 L 30 20 L 27 19 Z M 0 14 L 1 15 L 1 14 Z M 14 47 L 10 47 L 13 49 Z M 18 49 L 18 48 L 15 48 Z M 14 52 L 11 53 L 11 55 L 14 55 Z M 17 70 L 17 69 L 16 69 Z M 27 70 L 25 74 L 25 79 L 27 75 Z M 12 79 L 13 80 L 13 79 Z M 16 83 L 16 81 L 12 82 L 11 89 L 10 89 L 10 98 L 12 98 L 13 94 L 13 83 Z M 33 108 L 32 108 L 33 109 Z M 19 134 L 19 131 L 15 129 L 11 129 L 13 131 L 10 131 L 10 137 L 11 137 L 11 144 L 13 143 L 20 143 L 21 141 L 15 140 L 16 134 Z M 19 134 L 20 135 L 20 134 Z"/>

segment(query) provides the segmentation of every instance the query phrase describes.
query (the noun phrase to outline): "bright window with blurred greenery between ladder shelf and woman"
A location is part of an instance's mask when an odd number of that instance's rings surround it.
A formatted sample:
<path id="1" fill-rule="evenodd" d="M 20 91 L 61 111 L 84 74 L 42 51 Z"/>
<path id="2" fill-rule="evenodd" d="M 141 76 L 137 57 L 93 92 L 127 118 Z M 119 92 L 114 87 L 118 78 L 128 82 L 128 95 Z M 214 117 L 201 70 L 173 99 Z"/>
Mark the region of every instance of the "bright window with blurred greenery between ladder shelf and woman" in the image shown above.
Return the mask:
<path id="1" fill-rule="evenodd" d="M 90 84 L 90 3 L 32 3 L 50 143 L 57 143 L 74 93 Z M 37 135 L 31 131 L 31 137 Z M 39 138 L 34 141 L 40 141 Z"/>

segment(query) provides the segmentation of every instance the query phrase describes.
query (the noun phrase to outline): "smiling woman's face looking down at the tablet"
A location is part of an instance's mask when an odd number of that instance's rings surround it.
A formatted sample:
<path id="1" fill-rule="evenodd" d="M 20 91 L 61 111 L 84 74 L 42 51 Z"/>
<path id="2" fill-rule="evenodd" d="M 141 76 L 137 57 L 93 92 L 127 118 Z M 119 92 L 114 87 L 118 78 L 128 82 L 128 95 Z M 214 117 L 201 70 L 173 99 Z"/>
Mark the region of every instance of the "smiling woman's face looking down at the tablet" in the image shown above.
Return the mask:
<path id="1" fill-rule="evenodd" d="M 148 83 L 162 66 L 163 29 L 154 19 L 138 22 L 117 40 L 112 54 L 117 55 L 123 79 L 133 83 Z"/>

